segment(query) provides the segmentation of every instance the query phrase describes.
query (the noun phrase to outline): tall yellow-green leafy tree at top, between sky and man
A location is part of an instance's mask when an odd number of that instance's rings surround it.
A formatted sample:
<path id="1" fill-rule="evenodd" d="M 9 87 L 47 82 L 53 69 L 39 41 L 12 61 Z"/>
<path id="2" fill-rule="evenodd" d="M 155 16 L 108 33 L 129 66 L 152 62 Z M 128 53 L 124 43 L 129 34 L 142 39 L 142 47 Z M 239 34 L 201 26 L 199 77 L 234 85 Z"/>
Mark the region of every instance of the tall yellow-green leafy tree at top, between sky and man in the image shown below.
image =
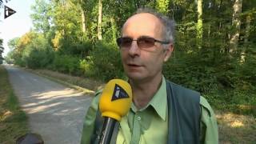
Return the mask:
<path id="1" fill-rule="evenodd" d="M 81 11 L 71 1 L 51 1 L 53 9 L 54 49 L 70 53 L 69 47 L 82 41 Z"/>

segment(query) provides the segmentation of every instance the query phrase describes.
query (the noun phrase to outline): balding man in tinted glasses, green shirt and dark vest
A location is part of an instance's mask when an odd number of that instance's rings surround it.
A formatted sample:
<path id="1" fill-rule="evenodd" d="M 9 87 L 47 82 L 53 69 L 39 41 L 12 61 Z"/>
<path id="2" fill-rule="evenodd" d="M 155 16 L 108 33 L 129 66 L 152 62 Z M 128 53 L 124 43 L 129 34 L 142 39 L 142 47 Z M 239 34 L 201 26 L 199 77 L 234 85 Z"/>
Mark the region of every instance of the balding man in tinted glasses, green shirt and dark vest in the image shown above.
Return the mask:
<path id="1" fill-rule="evenodd" d="M 127 19 L 118 38 L 122 65 L 133 103 L 116 129 L 113 143 L 218 143 L 214 112 L 197 92 L 167 81 L 162 65 L 174 50 L 174 22 L 152 10 L 138 10 Z M 82 143 L 100 134 L 96 94 L 86 114 Z"/>

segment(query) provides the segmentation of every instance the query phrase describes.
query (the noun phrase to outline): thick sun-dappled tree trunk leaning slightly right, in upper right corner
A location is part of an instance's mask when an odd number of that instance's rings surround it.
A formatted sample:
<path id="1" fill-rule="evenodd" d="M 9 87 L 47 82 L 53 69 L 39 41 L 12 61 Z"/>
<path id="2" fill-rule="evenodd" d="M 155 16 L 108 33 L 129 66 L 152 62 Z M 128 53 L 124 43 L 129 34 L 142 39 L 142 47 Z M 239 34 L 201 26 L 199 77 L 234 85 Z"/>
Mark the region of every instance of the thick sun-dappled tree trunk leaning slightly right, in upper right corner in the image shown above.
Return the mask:
<path id="1" fill-rule="evenodd" d="M 241 26 L 241 19 L 239 15 L 242 13 L 242 0 L 235 0 L 233 6 L 233 19 L 232 19 L 232 27 L 234 27 L 233 32 L 230 35 L 230 50 L 229 52 L 236 53 L 238 49 L 238 39 L 240 35 L 240 26 Z"/>

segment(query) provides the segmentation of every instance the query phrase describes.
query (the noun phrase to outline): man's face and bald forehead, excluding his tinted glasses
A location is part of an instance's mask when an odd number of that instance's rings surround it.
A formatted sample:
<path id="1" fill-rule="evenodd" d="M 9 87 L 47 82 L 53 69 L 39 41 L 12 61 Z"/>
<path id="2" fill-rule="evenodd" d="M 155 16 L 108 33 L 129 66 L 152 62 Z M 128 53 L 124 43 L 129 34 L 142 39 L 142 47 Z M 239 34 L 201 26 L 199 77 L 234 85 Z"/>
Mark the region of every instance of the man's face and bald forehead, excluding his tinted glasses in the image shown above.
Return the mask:
<path id="1" fill-rule="evenodd" d="M 135 14 L 123 26 L 122 37 L 136 40 L 142 36 L 163 41 L 162 23 L 153 14 Z M 172 49 L 170 44 L 164 50 L 158 42 L 154 46 L 141 48 L 137 41 L 133 41 L 130 47 L 121 48 L 122 65 L 130 80 L 143 81 L 162 77 L 162 64 L 170 57 Z"/>

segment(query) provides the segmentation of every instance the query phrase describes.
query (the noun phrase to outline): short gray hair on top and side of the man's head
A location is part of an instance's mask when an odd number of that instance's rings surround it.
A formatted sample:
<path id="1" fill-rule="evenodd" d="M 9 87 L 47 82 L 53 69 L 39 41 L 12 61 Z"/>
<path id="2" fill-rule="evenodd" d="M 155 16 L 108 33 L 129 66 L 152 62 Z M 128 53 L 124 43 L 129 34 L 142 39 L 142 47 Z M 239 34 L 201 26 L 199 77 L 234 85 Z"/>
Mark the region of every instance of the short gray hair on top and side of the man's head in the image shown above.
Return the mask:
<path id="1" fill-rule="evenodd" d="M 142 13 L 149 13 L 153 14 L 157 17 L 160 22 L 162 22 L 163 30 L 162 30 L 162 38 L 165 42 L 174 43 L 174 29 L 175 29 L 175 22 L 173 19 L 166 17 L 166 15 L 158 13 L 157 11 L 150 9 L 150 8 L 139 8 L 135 14 L 142 14 Z M 166 45 L 164 45 L 166 48 Z"/>

